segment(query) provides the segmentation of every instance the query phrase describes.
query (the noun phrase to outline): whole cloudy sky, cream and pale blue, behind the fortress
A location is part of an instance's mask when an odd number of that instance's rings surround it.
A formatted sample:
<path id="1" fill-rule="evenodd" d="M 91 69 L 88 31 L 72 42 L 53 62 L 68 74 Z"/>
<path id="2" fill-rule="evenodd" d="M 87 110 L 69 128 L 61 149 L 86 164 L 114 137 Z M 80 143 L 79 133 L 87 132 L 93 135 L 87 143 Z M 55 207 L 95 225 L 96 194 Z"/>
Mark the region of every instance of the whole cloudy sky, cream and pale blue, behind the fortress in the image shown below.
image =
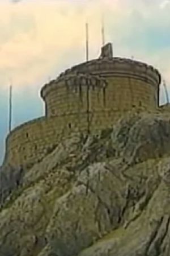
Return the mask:
<path id="1" fill-rule="evenodd" d="M 13 85 L 12 127 L 44 114 L 40 88 L 100 54 L 101 19 L 114 56 L 154 65 L 170 94 L 169 0 L 0 0 L 0 163 L 8 133 L 8 90 Z M 165 102 L 162 86 L 161 104 Z"/>

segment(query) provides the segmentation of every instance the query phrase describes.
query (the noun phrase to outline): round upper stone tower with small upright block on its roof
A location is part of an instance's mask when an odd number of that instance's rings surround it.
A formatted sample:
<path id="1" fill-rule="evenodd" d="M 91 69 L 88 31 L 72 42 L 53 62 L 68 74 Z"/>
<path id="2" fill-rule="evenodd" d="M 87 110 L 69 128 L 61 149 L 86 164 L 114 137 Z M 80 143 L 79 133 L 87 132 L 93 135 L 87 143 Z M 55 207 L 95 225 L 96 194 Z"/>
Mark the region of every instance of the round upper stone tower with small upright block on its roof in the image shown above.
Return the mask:
<path id="1" fill-rule="evenodd" d="M 131 109 L 158 108 L 160 80 L 150 65 L 113 57 L 109 43 L 99 59 L 67 69 L 42 88 L 41 96 L 46 116 L 74 115 L 81 121 L 88 113 L 93 129 L 112 125 L 113 119 Z"/>

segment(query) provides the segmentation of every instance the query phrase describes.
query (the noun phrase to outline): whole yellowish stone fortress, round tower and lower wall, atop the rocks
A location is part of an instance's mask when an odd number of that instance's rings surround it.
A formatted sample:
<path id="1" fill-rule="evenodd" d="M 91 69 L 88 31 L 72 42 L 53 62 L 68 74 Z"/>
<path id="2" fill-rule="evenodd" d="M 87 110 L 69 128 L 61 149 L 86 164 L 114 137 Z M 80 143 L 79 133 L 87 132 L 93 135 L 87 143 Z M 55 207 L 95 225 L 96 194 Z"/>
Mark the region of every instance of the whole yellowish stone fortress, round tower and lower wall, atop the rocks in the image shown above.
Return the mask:
<path id="1" fill-rule="evenodd" d="M 4 164 L 26 168 L 73 132 L 95 134 L 131 111 L 163 111 L 160 82 L 151 65 L 113 57 L 112 44 L 106 44 L 98 59 L 75 65 L 42 87 L 45 116 L 8 134 Z"/>

